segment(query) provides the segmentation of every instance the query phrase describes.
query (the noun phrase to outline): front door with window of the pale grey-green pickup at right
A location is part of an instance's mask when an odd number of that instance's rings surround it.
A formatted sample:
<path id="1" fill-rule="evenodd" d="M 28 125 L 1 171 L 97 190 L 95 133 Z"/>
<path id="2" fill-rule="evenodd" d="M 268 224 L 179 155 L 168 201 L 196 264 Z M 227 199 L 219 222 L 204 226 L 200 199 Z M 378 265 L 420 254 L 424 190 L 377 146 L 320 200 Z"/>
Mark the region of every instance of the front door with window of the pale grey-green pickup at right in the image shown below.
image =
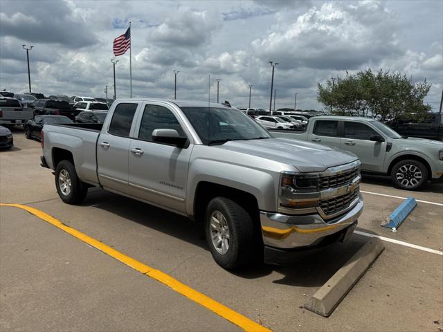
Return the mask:
<path id="1" fill-rule="evenodd" d="M 345 120 L 341 149 L 356 154 L 361 161 L 361 169 L 382 172 L 386 156 L 386 140 L 374 142 L 370 140 L 372 135 L 383 137 L 368 124 Z"/>

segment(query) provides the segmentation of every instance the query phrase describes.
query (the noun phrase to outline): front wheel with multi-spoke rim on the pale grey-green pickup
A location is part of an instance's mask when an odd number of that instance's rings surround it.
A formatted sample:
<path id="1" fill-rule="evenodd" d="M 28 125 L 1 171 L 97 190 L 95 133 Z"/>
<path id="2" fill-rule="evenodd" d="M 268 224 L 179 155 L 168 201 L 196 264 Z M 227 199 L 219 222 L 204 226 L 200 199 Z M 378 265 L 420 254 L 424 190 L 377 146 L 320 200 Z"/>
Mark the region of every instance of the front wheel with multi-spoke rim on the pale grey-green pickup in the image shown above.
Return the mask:
<path id="1" fill-rule="evenodd" d="M 428 169 L 417 160 L 401 160 L 392 167 L 390 178 L 395 187 L 403 190 L 420 190 L 428 181 Z"/>

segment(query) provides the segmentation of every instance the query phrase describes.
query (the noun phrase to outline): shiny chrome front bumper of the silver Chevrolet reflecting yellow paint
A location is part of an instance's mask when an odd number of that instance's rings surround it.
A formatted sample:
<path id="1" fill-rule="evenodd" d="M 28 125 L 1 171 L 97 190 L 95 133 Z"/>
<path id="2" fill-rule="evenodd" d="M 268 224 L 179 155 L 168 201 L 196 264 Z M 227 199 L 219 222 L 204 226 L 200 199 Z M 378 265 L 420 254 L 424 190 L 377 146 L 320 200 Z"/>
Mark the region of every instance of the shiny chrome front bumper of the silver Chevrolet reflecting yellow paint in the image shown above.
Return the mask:
<path id="1" fill-rule="evenodd" d="M 260 212 L 263 243 L 274 248 L 293 249 L 315 246 L 328 235 L 340 232 L 352 225 L 363 212 L 363 198 L 350 210 L 336 219 L 326 222 L 320 214 L 287 215 L 273 212 Z"/>

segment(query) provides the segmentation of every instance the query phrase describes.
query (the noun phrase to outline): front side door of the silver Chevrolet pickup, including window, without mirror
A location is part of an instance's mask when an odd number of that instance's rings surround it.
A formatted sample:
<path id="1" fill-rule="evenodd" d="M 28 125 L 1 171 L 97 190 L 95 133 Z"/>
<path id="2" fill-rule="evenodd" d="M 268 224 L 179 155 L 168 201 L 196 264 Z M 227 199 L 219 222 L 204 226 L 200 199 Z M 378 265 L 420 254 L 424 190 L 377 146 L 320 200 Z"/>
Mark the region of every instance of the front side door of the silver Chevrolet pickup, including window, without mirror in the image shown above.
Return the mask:
<path id="1" fill-rule="evenodd" d="M 161 102 L 144 105 L 129 147 L 129 194 L 177 212 L 186 212 L 186 179 L 192 144 L 175 147 L 152 142 L 154 129 L 188 136 L 176 111 Z M 188 136 L 189 138 L 190 136 Z"/>

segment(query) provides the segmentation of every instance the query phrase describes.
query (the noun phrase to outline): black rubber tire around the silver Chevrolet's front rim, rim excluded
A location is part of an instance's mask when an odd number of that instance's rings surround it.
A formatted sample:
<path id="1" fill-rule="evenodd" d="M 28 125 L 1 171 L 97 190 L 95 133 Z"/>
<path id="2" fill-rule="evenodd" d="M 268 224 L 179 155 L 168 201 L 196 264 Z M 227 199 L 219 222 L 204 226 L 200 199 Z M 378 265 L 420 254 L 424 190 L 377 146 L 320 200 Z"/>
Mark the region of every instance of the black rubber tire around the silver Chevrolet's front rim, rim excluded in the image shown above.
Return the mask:
<path id="1" fill-rule="evenodd" d="M 217 212 L 223 214 L 229 231 L 228 250 L 223 255 L 217 251 L 213 243 L 214 233 L 211 230 L 211 217 Z M 208 203 L 206 208 L 205 229 L 210 252 L 219 266 L 230 270 L 246 266 L 253 261 L 253 253 L 256 248 L 253 219 L 242 206 L 230 199 L 216 197 Z"/>

